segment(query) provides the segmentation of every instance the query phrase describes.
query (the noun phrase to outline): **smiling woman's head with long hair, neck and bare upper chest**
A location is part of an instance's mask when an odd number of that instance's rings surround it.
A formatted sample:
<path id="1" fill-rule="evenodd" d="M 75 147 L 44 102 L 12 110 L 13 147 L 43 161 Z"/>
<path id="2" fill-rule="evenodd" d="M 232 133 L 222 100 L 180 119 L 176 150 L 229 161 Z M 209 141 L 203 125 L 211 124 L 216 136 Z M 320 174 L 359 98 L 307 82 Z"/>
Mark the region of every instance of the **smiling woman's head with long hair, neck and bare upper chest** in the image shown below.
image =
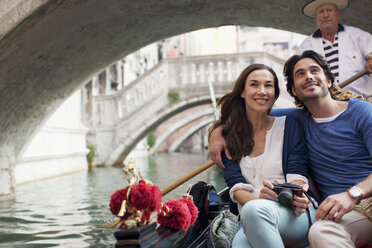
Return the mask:
<path id="1" fill-rule="evenodd" d="M 233 90 L 219 100 L 221 118 L 211 131 L 224 125 L 223 134 L 233 160 L 263 153 L 264 136 L 274 123 L 268 113 L 278 97 L 275 72 L 263 64 L 253 64 L 242 71 Z"/>

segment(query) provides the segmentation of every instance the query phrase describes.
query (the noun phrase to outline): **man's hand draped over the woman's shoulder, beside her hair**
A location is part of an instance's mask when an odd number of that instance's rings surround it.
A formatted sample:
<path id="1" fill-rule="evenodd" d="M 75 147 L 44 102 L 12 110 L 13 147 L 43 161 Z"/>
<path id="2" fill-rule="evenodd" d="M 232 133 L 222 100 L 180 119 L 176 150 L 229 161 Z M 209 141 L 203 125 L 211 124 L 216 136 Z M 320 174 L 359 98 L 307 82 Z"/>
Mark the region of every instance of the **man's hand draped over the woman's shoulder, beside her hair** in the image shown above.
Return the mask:
<path id="1" fill-rule="evenodd" d="M 222 136 L 222 126 L 219 126 L 209 136 L 209 154 L 219 168 L 225 169 L 221 159 L 222 151 L 225 151 L 226 157 L 231 159 L 225 138 Z"/>

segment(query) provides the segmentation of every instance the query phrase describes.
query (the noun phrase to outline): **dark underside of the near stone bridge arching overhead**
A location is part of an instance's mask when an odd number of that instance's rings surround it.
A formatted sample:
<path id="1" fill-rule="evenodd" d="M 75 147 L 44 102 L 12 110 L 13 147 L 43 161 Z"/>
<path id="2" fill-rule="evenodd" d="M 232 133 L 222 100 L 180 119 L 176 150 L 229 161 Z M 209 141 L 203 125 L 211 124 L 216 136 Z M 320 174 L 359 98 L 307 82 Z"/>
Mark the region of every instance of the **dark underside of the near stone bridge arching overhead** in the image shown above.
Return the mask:
<path id="1" fill-rule="evenodd" d="M 31 137 L 83 82 L 154 41 L 221 25 L 310 34 L 307 0 L 0 1 L 0 195 Z M 370 0 L 350 1 L 345 24 L 372 32 Z M 168 110 L 170 111 L 170 110 Z"/>

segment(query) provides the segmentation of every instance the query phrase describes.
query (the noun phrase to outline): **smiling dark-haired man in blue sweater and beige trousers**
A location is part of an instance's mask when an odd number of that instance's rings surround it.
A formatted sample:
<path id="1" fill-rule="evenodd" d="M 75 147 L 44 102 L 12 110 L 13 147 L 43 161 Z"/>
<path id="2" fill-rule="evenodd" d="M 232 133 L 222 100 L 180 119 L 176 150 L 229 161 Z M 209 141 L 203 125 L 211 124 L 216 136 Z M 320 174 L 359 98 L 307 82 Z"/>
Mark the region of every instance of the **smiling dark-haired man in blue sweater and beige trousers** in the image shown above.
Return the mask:
<path id="1" fill-rule="evenodd" d="M 309 232 L 311 247 L 370 242 L 372 222 L 366 215 L 372 196 L 372 104 L 333 99 L 333 75 L 313 51 L 292 56 L 284 75 L 287 91 L 304 107 L 297 116 L 305 131 L 310 172 L 323 200 Z"/>

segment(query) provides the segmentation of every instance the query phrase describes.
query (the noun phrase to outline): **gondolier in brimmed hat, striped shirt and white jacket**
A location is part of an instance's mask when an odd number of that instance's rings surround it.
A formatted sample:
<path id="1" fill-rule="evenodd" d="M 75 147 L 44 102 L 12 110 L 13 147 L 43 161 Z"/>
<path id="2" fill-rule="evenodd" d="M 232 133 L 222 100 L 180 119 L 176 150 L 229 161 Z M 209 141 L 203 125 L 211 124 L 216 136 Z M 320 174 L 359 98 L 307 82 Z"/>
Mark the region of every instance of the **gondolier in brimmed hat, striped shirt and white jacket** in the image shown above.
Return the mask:
<path id="1" fill-rule="evenodd" d="M 318 30 L 301 44 L 298 54 L 313 50 L 321 54 L 335 75 L 335 83 L 342 83 L 364 68 L 372 73 L 372 35 L 356 27 L 340 24 L 341 11 L 348 0 L 314 0 L 302 12 L 315 18 Z M 363 76 L 346 90 L 372 101 L 372 77 Z"/>

